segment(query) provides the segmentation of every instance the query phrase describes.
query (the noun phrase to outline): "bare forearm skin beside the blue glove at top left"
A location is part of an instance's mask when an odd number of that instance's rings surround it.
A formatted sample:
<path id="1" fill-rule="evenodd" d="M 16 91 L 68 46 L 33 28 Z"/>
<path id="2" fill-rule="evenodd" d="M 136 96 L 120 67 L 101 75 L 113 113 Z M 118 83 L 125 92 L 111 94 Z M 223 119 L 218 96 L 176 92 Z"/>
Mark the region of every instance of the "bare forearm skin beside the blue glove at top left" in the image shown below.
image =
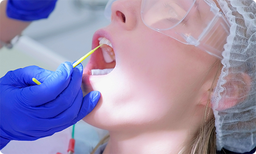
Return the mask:
<path id="1" fill-rule="evenodd" d="M 24 22 L 11 19 L 6 15 L 7 0 L 0 2 L 0 40 L 7 43 L 12 40 L 16 35 L 21 34 L 31 22 Z M 0 48 L 2 46 L 0 45 Z"/>

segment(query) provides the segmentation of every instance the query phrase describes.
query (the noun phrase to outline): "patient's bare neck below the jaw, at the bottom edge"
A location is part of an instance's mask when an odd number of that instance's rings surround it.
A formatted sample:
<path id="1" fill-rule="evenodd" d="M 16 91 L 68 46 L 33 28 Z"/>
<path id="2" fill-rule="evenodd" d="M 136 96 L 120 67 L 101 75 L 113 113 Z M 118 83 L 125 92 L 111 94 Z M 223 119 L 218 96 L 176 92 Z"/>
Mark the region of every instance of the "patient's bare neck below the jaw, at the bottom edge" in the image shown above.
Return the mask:
<path id="1" fill-rule="evenodd" d="M 178 154 L 194 137 L 184 129 L 144 133 L 110 132 L 103 154 Z"/>

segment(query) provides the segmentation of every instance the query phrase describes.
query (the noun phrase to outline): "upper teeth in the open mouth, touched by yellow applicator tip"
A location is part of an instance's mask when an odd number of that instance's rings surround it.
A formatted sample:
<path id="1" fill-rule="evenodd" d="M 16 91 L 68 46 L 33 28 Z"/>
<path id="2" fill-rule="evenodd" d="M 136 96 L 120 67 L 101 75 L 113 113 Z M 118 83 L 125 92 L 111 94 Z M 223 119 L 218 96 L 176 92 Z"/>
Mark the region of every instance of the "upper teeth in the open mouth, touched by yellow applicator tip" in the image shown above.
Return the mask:
<path id="1" fill-rule="evenodd" d="M 100 46 L 100 48 L 102 50 L 105 62 L 110 63 L 115 61 L 115 54 L 112 48 L 112 43 L 105 37 L 101 37 L 98 40 L 100 45 L 104 44 L 103 46 Z"/>

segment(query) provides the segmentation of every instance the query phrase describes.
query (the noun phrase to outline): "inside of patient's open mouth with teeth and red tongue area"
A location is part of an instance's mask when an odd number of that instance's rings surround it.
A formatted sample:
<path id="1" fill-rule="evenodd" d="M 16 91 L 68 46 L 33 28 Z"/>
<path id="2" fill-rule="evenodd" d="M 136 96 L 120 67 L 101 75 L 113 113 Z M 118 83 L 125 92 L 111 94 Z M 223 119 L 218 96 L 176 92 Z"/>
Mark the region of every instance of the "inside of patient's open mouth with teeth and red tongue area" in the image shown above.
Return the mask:
<path id="1" fill-rule="evenodd" d="M 115 67 L 115 53 L 112 48 L 112 43 L 105 37 L 98 38 L 100 46 L 99 51 L 92 54 L 89 63 L 87 64 L 87 73 L 92 76 L 107 75 Z"/>

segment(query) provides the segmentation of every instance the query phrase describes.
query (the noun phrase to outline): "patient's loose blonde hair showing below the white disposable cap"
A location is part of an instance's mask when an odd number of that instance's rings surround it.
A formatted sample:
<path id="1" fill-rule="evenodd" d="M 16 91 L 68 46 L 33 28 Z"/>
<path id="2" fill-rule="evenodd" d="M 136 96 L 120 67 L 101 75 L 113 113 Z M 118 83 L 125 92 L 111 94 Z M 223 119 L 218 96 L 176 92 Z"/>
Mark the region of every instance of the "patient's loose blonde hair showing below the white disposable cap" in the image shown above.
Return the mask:
<path id="1" fill-rule="evenodd" d="M 216 69 L 216 74 L 213 79 L 211 88 L 209 91 L 213 91 L 214 86 L 216 85 L 217 78 L 219 77 L 219 73 L 222 69 L 222 63 L 217 60 L 211 69 Z M 210 70 L 211 70 L 210 69 Z M 208 96 L 207 107 L 205 110 L 205 121 L 203 124 L 200 125 L 199 130 L 192 139 L 191 143 L 186 145 L 179 154 L 186 154 L 189 151 L 189 154 L 216 154 L 216 133 L 215 133 L 215 118 L 214 116 L 209 116 L 211 109 L 209 108 L 210 105 L 210 95 Z M 96 149 L 106 143 L 110 138 L 110 135 L 107 134 L 103 139 L 99 141 L 96 145 L 94 150 L 90 154 L 95 154 Z"/>

